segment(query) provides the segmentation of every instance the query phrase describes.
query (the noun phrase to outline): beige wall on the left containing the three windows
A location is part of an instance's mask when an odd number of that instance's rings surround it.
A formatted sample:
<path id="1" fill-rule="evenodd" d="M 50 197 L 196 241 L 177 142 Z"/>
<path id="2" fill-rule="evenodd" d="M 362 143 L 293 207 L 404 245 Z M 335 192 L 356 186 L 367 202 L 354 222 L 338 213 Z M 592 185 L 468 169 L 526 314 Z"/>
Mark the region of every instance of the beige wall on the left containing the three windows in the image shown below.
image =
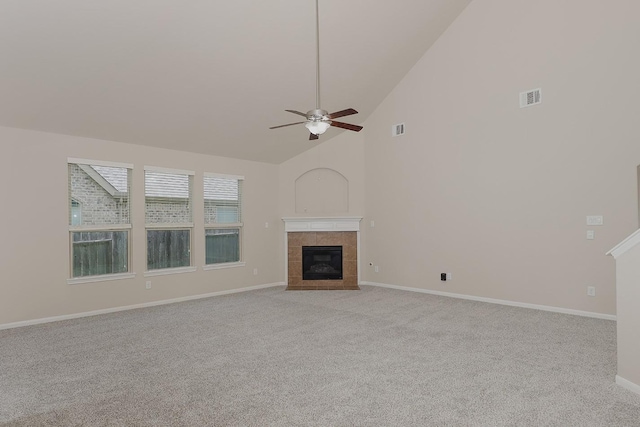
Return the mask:
<path id="1" fill-rule="evenodd" d="M 0 325 L 283 281 L 277 166 L 40 132 L 0 128 L 3 186 Z M 135 279 L 68 285 L 67 158 L 132 163 Z M 145 278 L 145 165 L 192 170 L 194 273 Z M 245 267 L 202 271 L 203 172 L 243 175 Z M 40 212 L 46 206 L 47 212 Z M 270 227 L 265 228 L 265 222 Z M 258 275 L 253 275 L 253 269 Z M 145 289 L 151 280 L 152 289 Z"/>

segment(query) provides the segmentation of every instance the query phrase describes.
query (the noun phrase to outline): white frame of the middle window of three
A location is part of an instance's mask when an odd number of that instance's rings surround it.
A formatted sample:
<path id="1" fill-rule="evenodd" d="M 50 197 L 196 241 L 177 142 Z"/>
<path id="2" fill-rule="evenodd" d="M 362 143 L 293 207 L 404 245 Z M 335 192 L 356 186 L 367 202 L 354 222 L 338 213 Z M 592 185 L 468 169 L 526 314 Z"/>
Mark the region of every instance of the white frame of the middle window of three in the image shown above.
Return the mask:
<path id="1" fill-rule="evenodd" d="M 189 180 L 189 202 L 191 210 L 191 222 L 176 222 L 176 223 L 147 223 L 147 172 L 152 173 L 162 173 L 162 174 L 171 174 L 171 175 L 187 175 Z M 194 186 L 194 177 L 195 172 L 189 170 L 182 169 L 173 169 L 173 168 L 164 168 L 157 166 L 144 166 L 144 213 L 145 213 L 145 277 L 152 276 L 163 276 L 169 274 L 178 274 L 178 273 L 190 273 L 197 270 L 194 266 L 193 260 L 193 237 L 194 237 L 194 223 L 193 223 L 193 186 Z M 161 198 L 158 198 L 161 199 Z M 167 267 L 167 268 L 157 268 L 153 270 L 149 270 L 149 245 L 148 245 L 148 232 L 151 230 L 175 230 L 182 231 L 187 230 L 189 232 L 189 265 L 181 266 L 181 267 Z"/>

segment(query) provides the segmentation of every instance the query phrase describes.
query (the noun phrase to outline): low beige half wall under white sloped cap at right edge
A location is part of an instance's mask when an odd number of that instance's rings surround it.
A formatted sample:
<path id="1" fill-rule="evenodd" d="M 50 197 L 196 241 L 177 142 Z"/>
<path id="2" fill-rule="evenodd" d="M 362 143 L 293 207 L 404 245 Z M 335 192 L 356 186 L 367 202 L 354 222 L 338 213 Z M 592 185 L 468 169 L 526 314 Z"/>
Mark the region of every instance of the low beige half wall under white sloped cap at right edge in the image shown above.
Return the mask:
<path id="1" fill-rule="evenodd" d="M 616 258 L 618 375 L 640 388 L 640 245 Z"/>

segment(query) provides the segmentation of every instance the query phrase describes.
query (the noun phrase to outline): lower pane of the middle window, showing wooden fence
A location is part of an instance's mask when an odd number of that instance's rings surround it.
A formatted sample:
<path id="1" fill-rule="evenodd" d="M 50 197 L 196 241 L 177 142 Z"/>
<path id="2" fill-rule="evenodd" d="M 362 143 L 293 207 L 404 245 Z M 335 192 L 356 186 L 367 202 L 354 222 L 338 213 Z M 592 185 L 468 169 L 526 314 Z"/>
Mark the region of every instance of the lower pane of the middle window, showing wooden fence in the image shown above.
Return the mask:
<path id="1" fill-rule="evenodd" d="M 147 230 L 147 270 L 191 265 L 190 230 Z"/>

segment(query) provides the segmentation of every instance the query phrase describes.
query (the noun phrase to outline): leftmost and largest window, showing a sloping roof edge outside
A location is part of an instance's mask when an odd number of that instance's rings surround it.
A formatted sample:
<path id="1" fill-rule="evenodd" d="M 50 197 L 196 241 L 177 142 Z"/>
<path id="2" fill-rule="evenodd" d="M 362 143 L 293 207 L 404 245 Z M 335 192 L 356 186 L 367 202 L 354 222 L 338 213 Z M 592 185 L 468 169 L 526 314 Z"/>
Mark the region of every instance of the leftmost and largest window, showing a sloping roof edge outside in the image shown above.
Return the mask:
<path id="1" fill-rule="evenodd" d="M 129 272 L 131 165 L 69 159 L 70 283 Z"/>

